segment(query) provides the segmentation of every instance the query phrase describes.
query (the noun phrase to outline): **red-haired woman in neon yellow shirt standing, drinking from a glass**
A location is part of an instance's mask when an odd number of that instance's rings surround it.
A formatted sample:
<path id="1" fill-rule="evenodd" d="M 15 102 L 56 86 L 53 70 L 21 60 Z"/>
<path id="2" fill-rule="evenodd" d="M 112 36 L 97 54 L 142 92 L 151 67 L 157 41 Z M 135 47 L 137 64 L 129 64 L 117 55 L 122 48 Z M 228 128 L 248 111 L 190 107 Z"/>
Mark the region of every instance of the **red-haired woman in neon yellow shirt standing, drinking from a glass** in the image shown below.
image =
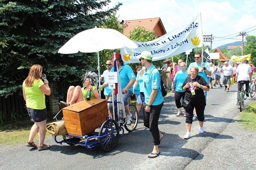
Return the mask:
<path id="1" fill-rule="evenodd" d="M 28 115 L 31 121 L 35 122 L 31 127 L 29 138 L 26 146 L 37 147 L 33 142 L 34 137 L 38 131 L 38 150 L 49 149 L 51 146 L 44 144 L 45 126 L 47 119 L 47 112 L 45 106 L 45 96 L 51 94 L 48 80 L 44 82 L 40 79 L 42 76 L 43 68 L 41 65 L 33 65 L 28 73 L 28 77 L 22 84 L 23 97 L 26 101 Z"/>

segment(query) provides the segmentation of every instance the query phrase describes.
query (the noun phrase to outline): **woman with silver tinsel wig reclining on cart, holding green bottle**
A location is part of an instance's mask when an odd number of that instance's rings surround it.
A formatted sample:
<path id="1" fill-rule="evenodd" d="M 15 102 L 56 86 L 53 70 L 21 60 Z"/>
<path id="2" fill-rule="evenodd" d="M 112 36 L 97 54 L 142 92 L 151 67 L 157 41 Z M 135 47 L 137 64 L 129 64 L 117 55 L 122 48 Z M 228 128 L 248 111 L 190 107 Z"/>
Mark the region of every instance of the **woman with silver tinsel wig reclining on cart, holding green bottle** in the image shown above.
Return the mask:
<path id="1" fill-rule="evenodd" d="M 85 72 L 83 74 L 83 87 L 81 88 L 79 85 L 70 86 L 67 92 L 67 102 L 60 101 L 59 105 L 63 107 L 67 107 L 79 101 L 85 100 L 87 92 L 91 89 L 91 97 L 100 98 L 100 93 L 97 89 L 98 86 L 98 75 L 95 72 Z"/>

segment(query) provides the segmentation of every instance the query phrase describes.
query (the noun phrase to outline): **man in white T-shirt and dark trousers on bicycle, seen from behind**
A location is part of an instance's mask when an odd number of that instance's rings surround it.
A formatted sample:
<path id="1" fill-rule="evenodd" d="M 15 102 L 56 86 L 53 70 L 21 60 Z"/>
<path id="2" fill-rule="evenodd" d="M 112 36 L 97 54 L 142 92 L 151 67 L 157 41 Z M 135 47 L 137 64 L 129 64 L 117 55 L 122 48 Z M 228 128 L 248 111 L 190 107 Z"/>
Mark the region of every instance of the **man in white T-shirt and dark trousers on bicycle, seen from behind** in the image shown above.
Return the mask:
<path id="1" fill-rule="evenodd" d="M 237 91 L 237 103 L 236 105 L 239 106 L 239 97 L 241 92 L 241 82 L 245 84 L 245 94 L 249 97 L 249 81 L 252 83 L 252 69 L 251 66 L 248 64 L 248 60 L 244 60 L 243 64 L 239 64 L 236 68 L 236 81 L 238 83 L 238 91 Z"/>

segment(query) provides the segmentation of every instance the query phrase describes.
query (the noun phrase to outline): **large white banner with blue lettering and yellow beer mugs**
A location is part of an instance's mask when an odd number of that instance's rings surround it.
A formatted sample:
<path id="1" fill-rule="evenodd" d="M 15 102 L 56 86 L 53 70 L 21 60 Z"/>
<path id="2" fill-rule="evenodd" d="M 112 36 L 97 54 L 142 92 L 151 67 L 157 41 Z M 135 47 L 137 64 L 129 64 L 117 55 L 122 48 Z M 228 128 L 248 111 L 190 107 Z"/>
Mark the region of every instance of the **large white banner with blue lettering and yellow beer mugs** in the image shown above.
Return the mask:
<path id="1" fill-rule="evenodd" d="M 203 46 L 201 17 L 198 14 L 188 24 L 172 30 L 155 40 L 148 42 L 133 41 L 138 48 L 121 48 L 124 63 L 139 63 L 142 51 L 149 51 L 153 61 L 162 60 L 190 49 Z"/>

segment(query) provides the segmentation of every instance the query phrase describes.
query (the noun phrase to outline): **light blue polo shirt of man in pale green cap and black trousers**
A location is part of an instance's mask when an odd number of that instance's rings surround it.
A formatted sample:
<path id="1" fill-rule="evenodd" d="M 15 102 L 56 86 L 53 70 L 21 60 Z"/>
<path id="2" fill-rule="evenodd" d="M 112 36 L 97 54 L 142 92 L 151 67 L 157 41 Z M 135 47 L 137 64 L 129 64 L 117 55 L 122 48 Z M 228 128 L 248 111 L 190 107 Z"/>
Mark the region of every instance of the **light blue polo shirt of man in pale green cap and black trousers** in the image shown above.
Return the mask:
<path id="1" fill-rule="evenodd" d="M 152 93 L 152 89 L 158 89 L 156 98 L 151 105 L 160 105 L 164 101 L 164 97 L 162 96 L 161 92 L 161 79 L 160 74 L 153 64 L 147 70 L 145 69 L 144 76 L 143 76 L 143 84 L 144 84 L 144 95 L 145 95 L 145 103 L 148 104 L 149 97 Z"/>

